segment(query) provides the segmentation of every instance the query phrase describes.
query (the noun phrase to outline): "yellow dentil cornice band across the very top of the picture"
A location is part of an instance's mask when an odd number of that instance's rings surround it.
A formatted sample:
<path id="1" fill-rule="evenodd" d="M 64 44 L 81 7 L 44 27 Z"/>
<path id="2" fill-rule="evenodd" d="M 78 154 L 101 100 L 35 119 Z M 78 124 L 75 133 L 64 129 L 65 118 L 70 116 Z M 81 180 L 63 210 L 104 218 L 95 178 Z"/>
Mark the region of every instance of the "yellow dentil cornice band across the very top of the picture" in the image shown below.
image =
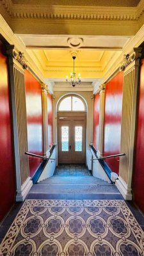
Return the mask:
<path id="1" fill-rule="evenodd" d="M 58 19 L 58 20 L 116 20 L 136 21 L 143 12 L 143 0 L 137 7 L 111 6 L 58 6 L 42 4 L 13 4 L 0 0 L 12 19 Z M 79 7 L 79 8 L 78 8 Z M 139 13 L 138 13 L 139 12 Z"/>

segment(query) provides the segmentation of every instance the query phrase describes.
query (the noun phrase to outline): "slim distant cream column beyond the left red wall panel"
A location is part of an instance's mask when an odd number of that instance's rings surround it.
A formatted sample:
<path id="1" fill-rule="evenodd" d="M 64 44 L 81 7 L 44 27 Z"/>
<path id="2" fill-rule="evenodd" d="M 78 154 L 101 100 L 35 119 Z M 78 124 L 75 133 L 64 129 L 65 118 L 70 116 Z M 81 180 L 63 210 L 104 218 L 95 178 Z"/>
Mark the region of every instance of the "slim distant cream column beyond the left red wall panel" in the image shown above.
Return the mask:
<path id="1" fill-rule="evenodd" d="M 42 118 L 43 118 L 43 145 L 44 145 L 44 156 L 47 155 L 49 149 L 48 143 L 48 111 L 47 111 L 47 93 L 48 86 L 42 83 Z"/>

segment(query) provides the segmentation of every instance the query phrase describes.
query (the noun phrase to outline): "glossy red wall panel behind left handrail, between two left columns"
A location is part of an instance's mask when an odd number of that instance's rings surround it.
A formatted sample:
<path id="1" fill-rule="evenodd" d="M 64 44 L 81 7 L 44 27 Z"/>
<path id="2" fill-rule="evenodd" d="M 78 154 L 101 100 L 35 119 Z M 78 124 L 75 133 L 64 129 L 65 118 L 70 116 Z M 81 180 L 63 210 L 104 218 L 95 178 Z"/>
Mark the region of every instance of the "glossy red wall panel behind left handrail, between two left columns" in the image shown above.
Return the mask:
<path id="1" fill-rule="evenodd" d="M 43 155 L 42 130 L 42 94 L 41 84 L 28 70 L 25 75 L 26 83 L 26 111 L 28 123 L 28 150 L 34 154 Z M 41 159 L 29 157 L 30 177 L 33 177 Z"/>

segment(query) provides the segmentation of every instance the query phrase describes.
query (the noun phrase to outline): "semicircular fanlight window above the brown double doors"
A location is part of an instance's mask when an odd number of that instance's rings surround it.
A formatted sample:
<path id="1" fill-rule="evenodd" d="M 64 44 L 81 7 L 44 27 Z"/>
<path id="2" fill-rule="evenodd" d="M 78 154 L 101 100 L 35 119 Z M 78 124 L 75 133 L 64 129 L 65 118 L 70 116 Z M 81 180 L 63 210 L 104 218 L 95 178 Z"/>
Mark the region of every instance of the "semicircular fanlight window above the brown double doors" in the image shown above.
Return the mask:
<path id="1" fill-rule="evenodd" d="M 85 111 L 85 106 L 79 97 L 68 96 L 61 100 L 58 111 Z"/>

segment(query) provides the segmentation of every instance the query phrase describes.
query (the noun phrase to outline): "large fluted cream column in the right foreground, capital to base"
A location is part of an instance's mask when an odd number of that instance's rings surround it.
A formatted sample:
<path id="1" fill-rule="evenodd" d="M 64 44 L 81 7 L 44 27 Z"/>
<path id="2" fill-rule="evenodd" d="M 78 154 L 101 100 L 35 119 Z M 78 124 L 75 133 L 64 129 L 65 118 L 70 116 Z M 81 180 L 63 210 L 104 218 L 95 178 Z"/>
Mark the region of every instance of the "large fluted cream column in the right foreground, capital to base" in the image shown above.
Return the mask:
<path id="1" fill-rule="evenodd" d="M 141 48 L 135 48 L 131 55 L 125 55 L 124 63 L 120 66 L 120 70 L 124 70 L 120 153 L 125 153 L 125 156 L 120 157 L 119 179 L 116 180 L 116 186 L 126 200 L 132 199 L 131 184 L 141 51 Z"/>

